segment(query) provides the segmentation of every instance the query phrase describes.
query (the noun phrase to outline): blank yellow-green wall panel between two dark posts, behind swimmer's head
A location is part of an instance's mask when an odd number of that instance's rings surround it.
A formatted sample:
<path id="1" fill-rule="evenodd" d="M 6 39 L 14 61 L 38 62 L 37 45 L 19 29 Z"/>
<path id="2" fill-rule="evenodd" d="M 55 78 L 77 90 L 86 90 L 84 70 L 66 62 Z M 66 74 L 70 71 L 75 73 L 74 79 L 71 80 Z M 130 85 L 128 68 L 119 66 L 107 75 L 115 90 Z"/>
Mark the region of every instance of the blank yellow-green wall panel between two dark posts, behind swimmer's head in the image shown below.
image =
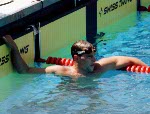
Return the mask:
<path id="1" fill-rule="evenodd" d="M 83 7 L 41 27 L 42 57 L 86 36 L 85 11 Z"/>

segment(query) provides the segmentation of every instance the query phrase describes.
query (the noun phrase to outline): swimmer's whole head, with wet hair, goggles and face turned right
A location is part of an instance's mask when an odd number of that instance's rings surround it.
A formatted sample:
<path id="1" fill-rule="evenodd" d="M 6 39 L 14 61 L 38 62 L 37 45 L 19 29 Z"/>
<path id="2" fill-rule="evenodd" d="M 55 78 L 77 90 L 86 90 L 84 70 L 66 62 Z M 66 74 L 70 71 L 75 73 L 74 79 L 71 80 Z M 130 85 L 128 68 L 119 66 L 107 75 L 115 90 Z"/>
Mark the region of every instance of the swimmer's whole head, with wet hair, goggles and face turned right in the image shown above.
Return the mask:
<path id="1" fill-rule="evenodd" d="M 94 70 L 96 48 L 89 42 L 80 40 L 71 47 L 71 55 L 78 63 L 80 70 L 92 72 Z"/>

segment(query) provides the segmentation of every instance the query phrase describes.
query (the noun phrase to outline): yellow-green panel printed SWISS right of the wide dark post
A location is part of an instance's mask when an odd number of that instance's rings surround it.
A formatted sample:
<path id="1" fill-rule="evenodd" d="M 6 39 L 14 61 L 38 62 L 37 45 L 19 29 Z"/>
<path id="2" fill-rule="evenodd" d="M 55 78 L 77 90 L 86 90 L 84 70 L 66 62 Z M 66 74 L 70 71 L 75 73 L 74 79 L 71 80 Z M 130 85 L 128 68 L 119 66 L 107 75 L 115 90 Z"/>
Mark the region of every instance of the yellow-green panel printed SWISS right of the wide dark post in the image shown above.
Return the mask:
<path id="1" fill-rule="evenodd" d="M 136 0 L 98 0 L 97 2 L 97 31 L 119 21 L 127 15 L 136 12 Z"/>

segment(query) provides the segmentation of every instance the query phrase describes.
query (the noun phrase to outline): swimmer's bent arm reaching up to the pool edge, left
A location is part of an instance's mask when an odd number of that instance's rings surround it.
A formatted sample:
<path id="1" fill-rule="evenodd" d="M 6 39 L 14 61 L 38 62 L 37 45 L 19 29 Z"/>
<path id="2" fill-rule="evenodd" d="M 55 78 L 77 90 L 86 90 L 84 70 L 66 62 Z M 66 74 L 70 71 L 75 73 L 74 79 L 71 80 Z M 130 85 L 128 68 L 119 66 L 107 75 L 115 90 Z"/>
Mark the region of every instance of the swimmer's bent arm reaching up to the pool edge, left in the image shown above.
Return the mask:
<path id="1" fill-rule="evenodd" d="M 3 37 L 6 45 L 11 49 L 11 61 L 14 68 L 17 70 L 18 73 L 56 73 L 62 74 L 65 72 L 65 67 L 59 65 L 49 66 L 47 68 L 33 68 L 29 67 L 26 62 L 22 59 L 18 47 L 16 43 L 13 41 L 10 35 L 6 35 Z"/>

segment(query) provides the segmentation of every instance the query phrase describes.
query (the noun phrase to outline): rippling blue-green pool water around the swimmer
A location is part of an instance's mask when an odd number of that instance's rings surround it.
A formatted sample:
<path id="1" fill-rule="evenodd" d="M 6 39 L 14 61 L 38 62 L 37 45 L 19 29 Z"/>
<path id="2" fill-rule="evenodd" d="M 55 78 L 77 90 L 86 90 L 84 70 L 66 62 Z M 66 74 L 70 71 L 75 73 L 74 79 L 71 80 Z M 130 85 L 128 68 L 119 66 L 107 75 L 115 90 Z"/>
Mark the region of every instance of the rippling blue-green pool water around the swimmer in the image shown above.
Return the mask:
<path id="1" fill-rule="evenodd" d="M 149 20 L 149 13 L 141 13 L 132 26 L 116 26 L 116 31 L 97 38 L 96 58 L 133 56 L 150 65 Z M 100 77 L 72 80 L 54 74 L 12 73 L 0 79 L 0 91 L 0 114 L 150 113 L 149 74 L 109 71 Z"/>

